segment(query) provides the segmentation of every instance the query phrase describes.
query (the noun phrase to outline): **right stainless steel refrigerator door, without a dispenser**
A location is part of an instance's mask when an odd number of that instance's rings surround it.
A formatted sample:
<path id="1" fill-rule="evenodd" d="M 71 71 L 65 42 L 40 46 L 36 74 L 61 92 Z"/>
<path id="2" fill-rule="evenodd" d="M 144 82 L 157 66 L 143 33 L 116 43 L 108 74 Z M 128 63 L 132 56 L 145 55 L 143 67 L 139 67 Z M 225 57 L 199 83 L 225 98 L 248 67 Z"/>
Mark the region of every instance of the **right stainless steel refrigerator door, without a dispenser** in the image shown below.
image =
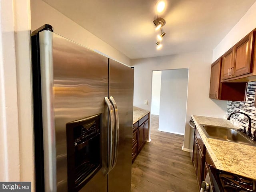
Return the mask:
<path id="1" fill-rule="evenodd" d="M 134 69 L 109 59 L 109 98 L 118 107 L 119 141 L 116 165 L 108 174 L 108 192 L 130 192 Z"/>

